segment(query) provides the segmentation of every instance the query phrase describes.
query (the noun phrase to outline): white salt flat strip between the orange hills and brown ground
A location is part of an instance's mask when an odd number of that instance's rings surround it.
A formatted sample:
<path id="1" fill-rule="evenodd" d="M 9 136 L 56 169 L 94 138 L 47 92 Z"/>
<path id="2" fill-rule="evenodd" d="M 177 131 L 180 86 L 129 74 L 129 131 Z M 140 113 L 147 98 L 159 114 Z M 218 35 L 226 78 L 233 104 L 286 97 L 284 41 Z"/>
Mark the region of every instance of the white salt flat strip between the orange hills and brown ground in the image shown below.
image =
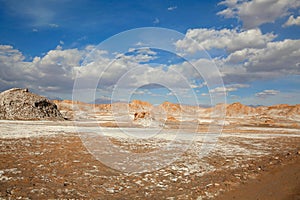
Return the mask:
<path id="1" fill-rule="evenodd" d="M 87 125 L 88 124 L 88 125 Z M 225 127 L 226 129 L 226 127 Z M 22 131 L 20 131 L 22 130 Z M 244 132 L 242 132 L 244 131 Z M 245 132 L 249 131 L 249 132 Z M 255 131 L 255 132 L 253 132 Z M 162 129 L 162 128 L 131 128 L 131 127 L 101 127 L 95 121 L 14 121 L 1 120 L 0 138 L 41 137 L 57 134 L 84 134 L 95 133 L 108 137 L 128 139 L 165 139 L 173 140 L 176 135 L 185 140 L 201 140 L 204 136 L 217 135 L 218 137 L 270 138 L 270 137 L 300 137 L 300 129 L 276 127 L 237 127 L 235 132 L 227 130 L 222 133 L 196 132 L 189 129 Z"/>

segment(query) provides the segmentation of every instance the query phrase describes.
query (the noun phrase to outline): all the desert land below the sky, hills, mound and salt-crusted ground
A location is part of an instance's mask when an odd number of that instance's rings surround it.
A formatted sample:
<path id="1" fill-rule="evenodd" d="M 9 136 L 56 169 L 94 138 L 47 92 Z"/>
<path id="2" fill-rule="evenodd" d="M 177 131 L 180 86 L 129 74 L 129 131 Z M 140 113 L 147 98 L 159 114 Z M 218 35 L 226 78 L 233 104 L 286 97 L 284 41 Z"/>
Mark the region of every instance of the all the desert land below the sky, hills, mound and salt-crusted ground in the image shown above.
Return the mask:
<path id="1" fill-rule="evenodd" d="M 1 95 L 0 199 L 300 198 L 300 105 Z"/>

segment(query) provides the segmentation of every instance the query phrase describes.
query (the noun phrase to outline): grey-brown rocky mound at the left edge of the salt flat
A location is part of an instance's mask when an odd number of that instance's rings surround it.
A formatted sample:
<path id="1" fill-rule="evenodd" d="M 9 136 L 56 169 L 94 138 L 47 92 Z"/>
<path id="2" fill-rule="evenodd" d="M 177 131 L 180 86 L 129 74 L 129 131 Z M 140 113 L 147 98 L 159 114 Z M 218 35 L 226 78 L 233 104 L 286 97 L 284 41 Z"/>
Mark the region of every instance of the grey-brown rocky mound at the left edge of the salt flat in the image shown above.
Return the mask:
<path id="1" fill-rule="evenodd" d="M 56 104 L 20 88 L 0 93 L 0 119 L 64 120 Z"/>

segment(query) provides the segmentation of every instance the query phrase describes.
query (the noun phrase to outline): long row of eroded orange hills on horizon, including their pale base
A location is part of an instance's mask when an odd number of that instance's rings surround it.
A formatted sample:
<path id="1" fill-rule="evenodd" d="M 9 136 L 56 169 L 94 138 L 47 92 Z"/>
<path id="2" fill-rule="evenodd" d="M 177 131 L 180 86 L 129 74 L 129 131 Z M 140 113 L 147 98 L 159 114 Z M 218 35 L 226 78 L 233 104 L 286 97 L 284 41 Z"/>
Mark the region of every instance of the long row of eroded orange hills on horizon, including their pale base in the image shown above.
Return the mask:
<path id="1" fill-rule="evenodd" d="M 239 102 L 232 104 L 218 104 L 214 107 L 199 107 L 164 102 L 152 105 L 140 100 L 130 103 L 116 102 L 113 104 L 87 104 L 71 100 L 54 101 L 60 111 L 67 118 L 102 120 L 103 116 L 125 116 L 137 121 L 137 118 L 160 121 L 186 121 L 199 124 L 219 123 L 226 125 L 243 126 L 278 126 L 300 128 L 300 104 L 273 105 L 273 106 L 247 106 Z M 224 114 L 222 114 L 224 113 Z M 145 117 L 144 117 L 145 116 Z M 112 118 L 111 118 L 112 119 Z M 125 118 L 124 118 L 125 119 Z M 134 120 L 135 119 L 135 120 Z M 224 119 L 224 120 L 223 120 Z M 219 121 L 219 122 L 218 122 Z"/>

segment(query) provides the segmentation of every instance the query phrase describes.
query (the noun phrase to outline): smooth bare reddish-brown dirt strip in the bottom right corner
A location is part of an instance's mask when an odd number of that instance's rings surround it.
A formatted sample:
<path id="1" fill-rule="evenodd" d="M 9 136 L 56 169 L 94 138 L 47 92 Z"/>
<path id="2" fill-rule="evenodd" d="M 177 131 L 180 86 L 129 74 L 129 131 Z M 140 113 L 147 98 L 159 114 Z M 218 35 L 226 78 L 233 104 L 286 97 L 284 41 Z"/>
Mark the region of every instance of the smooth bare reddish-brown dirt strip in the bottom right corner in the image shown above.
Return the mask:
<path id="1" fill-rule="evenodd" d="M 300 199 L 300 159 L 284 166 L 275 167 L 220 195 L 216 200 L 299 200 Z"/>

